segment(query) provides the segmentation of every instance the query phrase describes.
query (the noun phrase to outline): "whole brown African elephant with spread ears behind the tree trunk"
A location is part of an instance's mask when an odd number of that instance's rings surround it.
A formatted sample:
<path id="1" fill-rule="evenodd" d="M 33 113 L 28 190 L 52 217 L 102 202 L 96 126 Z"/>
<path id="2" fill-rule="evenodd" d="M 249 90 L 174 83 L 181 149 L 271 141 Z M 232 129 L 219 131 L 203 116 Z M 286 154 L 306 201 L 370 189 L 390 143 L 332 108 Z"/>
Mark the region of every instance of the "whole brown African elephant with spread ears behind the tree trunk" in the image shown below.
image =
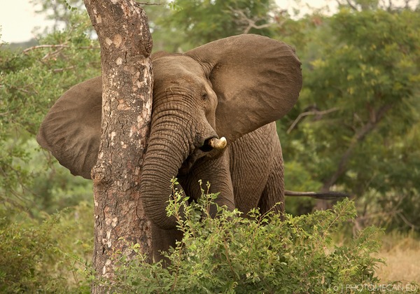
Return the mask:
<path id="1" fill-rule="evenodd" d="M 165 211 L 174 176 L 193 199 L 201 195 L 197 182 L 209 181 L 211 192 L 221 192 L 219 205 L 244 213 L 254 207 L 264 213 L 284 202 L 274 121 L 290 111 L 302 87 L 293 48 L 244 34 L 183 54 L 156 53 L 152 66 L 151 134 L 141 174 L 152 223 L 175 228 Z M 72 174 L 86 179 L 99 150 L 101 103 L 101 77 L 72 87 L 52 106 L 37 137 Z"/>

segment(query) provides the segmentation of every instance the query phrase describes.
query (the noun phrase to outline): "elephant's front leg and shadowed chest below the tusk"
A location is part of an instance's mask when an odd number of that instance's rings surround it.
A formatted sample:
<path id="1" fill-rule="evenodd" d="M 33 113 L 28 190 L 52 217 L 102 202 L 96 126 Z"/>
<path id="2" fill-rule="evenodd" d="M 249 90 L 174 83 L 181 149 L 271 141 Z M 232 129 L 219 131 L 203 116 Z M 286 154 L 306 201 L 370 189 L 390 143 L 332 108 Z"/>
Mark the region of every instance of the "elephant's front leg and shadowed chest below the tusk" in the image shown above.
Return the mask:
<path id="1" fill-rule="evenodd" d="M 209 193 L 220 193 L 215 202 L 219 207 L 226 206 L 235 209 L 232 179 L 230 177 L 228 151 L 219 158 L 201 158 L 197 160 L 188 174 L 180 176 L 181 186 L 186 195 L 197 200 L 202 196 L 201 189 L 207 193 L 207 182 L 210 183 Z M 200 186 L 202 180 L 204 187 Z M 216 207 L 211 207 L 211 216 L 216 216 Z"/>

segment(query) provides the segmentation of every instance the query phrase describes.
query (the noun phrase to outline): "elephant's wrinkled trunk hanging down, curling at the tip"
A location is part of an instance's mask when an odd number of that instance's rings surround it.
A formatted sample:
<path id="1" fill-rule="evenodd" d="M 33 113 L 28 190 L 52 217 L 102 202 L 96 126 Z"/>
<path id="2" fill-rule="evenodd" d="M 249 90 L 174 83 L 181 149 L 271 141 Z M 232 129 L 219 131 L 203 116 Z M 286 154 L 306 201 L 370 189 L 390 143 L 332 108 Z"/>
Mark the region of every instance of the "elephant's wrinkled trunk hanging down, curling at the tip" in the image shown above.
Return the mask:
<path id="1" fill-rule="evenodd" d="M 141 172 L 141 199 L 146 216 L 163 229 L 176 228 L 166 207 L 172 195 L 171 180 L 190 153 L 190 144 L 170 125 L 153 127 Z"/>

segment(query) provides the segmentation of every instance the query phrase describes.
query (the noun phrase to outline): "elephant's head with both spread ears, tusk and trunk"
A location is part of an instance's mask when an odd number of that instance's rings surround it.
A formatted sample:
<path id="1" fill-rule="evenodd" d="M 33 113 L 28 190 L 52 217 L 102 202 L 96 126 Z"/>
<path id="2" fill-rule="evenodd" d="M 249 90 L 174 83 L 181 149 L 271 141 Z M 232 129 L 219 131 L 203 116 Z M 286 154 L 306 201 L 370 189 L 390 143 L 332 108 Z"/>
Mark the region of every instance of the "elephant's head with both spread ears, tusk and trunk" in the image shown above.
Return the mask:
<path id="1" fill-rule="evenodd" d="M 148 217 L 174 228 L 165 208 L 170 180 L 203 158 L 218 158 L 225 137 L 239 137 L 278 120 L 302 87 L 300 61 L 289 45 L 257 35 L 239 35 L 183 54 L 157 53 L 153 61 L 153 113 L 141 174 Z M 38 133 L 72 174 L 90 179 L 97 160 L 101 78 L 72 87 L 52 107 Z M 214 171 L 217 172 L 217 171 Z"/>

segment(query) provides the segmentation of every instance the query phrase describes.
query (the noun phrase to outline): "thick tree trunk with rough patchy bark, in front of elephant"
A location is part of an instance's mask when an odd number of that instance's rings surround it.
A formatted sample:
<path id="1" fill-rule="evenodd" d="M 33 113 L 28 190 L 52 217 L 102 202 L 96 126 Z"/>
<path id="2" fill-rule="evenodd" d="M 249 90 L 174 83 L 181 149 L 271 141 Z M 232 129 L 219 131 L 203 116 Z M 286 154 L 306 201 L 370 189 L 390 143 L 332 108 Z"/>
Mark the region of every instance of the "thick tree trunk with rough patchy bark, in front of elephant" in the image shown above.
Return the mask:
<path id="1" fill-rule="evenodd" d="M 116 253 L 151 256 L 151 224 L 139 201 L 141 164 L 151 118 L 152 38 L 144 10 L 133 0 L 84 0 L 101 45 L 102 138 L 94 184 L 97 278 L 112 283 Z M 150 261 L 150 260 L 149 260 Z M 109 289 L 99 283 L 92 293 Z"/>

